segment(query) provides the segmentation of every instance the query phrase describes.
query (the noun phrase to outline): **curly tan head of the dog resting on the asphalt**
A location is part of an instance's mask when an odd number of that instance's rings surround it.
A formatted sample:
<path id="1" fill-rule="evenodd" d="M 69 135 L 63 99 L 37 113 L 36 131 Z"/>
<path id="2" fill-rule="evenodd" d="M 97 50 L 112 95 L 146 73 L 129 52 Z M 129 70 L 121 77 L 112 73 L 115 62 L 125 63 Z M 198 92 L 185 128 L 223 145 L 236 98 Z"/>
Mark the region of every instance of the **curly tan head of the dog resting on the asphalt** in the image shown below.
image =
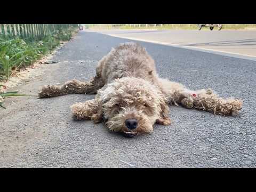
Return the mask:
<path id="1" fill-rule="evenodd" d="M 152 132 L 155 122 L 163 121 L 169 111 L 156 86 L 134 77 L 116 79 L 103 87 L 98 102 L 108 129 L 131 137 Z"/>

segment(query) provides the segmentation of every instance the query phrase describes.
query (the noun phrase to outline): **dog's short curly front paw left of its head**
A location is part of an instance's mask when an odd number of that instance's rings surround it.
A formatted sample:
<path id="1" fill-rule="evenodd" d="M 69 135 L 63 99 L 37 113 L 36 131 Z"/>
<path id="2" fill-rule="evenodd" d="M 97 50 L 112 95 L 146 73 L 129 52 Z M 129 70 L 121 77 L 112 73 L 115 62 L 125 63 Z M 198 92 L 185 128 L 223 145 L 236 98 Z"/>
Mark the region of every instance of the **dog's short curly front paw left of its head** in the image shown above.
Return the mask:
<path id="1" fill-rule="evenodd" d="M 91 119 L 94 123 L 102 122 L 102 105 L 98 99 L 75 103 L 71 106 L 73 118 L 77 120 Z"/>

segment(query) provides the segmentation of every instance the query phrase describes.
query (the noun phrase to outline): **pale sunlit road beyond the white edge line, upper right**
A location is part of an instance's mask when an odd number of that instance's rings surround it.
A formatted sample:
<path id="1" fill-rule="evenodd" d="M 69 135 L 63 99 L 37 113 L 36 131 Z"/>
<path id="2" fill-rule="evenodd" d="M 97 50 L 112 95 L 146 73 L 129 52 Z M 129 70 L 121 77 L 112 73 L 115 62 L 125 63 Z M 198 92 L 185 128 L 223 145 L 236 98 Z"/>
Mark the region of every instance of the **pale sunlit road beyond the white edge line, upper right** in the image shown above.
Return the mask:
<path id="1" fill-rule="evenodd" d="M 256 60 L 256 30 L 101 30 L 100 32 L 117 37 L 251 55 Z"/>

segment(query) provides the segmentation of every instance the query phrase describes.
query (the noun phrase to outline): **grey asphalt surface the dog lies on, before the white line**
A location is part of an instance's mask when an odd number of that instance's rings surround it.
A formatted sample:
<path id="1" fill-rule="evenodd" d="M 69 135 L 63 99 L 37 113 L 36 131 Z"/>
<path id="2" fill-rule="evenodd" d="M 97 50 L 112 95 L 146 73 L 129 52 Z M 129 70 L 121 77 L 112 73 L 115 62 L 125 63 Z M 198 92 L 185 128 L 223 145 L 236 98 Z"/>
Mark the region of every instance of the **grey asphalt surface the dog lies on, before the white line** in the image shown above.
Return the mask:
<path id="1" fill-rule="evenodd" d="M 37 99 L 43 85 L 95 74 L 97 62 L 127 39 L 81 31 L 42 65 L 42 76 L 13 90 L 35 96 L 7 98 L 0 113 L 0 167 L 256 167 L 256 62 L 139 42 L 155 59 L 160 77 L 190 89 L 212 87 L 242 98 L 235 117 L 171 106 L 170 126 L 125 138 L 102 124 L 73 121 L 70 105 L 94 95 Z"/>

